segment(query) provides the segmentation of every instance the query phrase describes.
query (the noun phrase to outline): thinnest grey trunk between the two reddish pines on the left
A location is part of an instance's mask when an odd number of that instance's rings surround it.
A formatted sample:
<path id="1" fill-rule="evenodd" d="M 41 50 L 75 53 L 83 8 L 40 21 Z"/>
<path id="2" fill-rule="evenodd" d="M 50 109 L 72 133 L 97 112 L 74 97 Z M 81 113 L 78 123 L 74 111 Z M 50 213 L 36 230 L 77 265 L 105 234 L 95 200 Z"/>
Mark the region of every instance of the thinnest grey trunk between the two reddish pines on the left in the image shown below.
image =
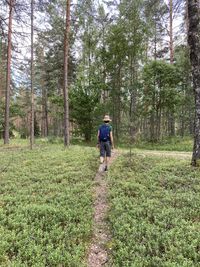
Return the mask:
<path id="1" fill-rule="evenodd" d="M 34 0 L 31 0 L 31 120 L 30 120 L 30 148 L 34 145 L 34 66 L 33 66 L 33 9 Z"/>

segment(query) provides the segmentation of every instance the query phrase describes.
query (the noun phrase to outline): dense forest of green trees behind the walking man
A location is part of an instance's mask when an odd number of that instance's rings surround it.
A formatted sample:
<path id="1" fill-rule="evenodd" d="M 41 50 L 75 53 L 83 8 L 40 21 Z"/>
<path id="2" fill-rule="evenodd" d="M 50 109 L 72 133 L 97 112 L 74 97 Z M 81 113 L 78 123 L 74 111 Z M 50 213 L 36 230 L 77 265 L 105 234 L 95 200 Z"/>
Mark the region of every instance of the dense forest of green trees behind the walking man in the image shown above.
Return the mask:
<path id="1" fill-rule="evenodd" d="M 11 5 L 10 136 L 30 135 L 31 84 L 35 136 L 63 136 L 66 1 L 32 4 L 33 9 L 29 1 L 0 0 L 1 138 Z M 184 1 L 79 0 L 70 8 L 70 136 L 91 141 L 104 114 L 111 116 L 114 137 L 120 141 L 192 135 L 194 97 Z"/>

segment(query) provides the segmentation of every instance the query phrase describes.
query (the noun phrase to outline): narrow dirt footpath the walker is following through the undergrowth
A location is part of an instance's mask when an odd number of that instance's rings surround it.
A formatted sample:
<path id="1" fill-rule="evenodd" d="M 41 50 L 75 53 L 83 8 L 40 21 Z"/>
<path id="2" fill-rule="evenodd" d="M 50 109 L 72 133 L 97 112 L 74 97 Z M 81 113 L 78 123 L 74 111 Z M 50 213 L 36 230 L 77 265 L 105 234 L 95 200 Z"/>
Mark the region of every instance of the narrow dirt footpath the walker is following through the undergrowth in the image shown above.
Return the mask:
<path id="1" fill-rule="evenodd" d="M 119 152 L 115 150 L 108 167 L 118 155 Z M 104 179 L 105 174 L 104 164 L 101 164 L 95 176 L 94 226 L 93 238 L 88 253 L 88 267 L 105 266 L 109 260 L 109 252 L 106 248 L 106 243 L 111 239 L 111 235 L 108 225 L 105 222 L 105 216 L 109 206 L 107 202 L 107 182 Z"/>

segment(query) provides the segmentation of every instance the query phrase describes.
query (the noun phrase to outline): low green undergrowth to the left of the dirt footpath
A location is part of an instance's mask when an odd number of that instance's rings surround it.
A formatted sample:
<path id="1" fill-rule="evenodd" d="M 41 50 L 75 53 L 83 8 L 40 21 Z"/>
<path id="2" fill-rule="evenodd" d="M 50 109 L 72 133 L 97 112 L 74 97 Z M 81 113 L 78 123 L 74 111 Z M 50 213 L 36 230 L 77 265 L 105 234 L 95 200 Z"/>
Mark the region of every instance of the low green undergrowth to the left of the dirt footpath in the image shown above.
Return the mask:
<path id="1" fill-rule="evenodd" d="M 0 266 L 86 266 L 95 149 L 0 150 Z"/>

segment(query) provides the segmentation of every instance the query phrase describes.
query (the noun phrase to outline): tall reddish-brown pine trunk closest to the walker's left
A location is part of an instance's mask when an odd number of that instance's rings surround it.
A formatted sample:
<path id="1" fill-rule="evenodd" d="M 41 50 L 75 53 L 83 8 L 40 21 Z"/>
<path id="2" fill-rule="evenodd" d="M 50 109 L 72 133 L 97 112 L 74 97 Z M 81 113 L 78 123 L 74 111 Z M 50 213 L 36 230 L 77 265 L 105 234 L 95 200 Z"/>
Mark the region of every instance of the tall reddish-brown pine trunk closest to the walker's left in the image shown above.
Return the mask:
<path id="1" fill-rule="evenodd" d="M 70 0 L 66 1 L 66 29 L 64 40 L 64 145 L 69 146 L 69 90 L 68 90 L 68 58 L 70 31 Z"/>

